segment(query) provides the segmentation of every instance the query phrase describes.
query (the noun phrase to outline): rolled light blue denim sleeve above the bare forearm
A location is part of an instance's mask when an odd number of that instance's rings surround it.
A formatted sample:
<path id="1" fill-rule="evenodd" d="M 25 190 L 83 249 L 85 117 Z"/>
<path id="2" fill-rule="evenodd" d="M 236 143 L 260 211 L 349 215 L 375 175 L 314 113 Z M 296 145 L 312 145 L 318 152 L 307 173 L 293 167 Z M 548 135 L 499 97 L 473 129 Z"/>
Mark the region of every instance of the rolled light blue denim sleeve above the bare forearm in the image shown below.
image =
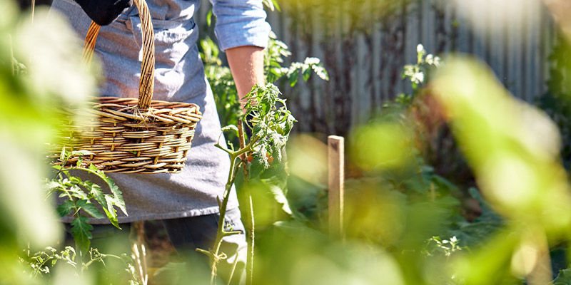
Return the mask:
<path id="1" fill-rule="evenodd" d="M 237 46 L 268 46 L 270 24 L 261 0 L 210 0 L 216 16 L 214 32 L 222 51 Z"/>

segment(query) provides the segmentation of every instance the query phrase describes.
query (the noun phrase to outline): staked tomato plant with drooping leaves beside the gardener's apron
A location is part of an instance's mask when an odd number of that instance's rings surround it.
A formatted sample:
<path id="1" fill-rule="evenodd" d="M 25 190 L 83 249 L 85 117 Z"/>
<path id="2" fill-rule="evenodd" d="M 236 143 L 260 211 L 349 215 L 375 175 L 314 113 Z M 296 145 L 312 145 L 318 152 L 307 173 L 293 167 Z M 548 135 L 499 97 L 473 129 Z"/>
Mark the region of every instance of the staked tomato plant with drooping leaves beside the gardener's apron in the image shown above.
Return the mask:
<path id="1" fill-rule="evenodd" d="M 285 147 L 288 140 L 290 130 L 293 128 L 295 118 L 291 115 L 285 99 L 280 98 L 280 91 L 276 86 L 269 83 L 266 86 L 254 86 L 248 95 L 246 95 L 246 115 L 243 118 L 250 118 L 244 124 L 239 120 L 238 126 L 229 125 L 223 128 L 223 132 L 233 132 L 240 138 L 240 145 L 233 145 L 229 142 L 228 147 L 217 144 L 216 147 L 228 153 L 230 156 L 231 167 L 228 173 L 228 181 L 223 197 L 218 198 L 218 206 L 220 211 L 220 219 L 218 221 L 218 232 L 216 240 L 211 249 L 197 249 L 209 257 L 211 257 L 211 283 L 216 282 L 216 274 L 218 262 L 226 258 L 226 254 L 221 252 L 221 244 L 223 237 L 239 232 L 227 231 L 224 228 L 226 207 L 232 185 L 238 175 L 238 169 L 242 167 L 244 170 L 244 179 L 247 183 L 252 177 L 258 177 L 263 170 L 268 169 L 273 164 L 279 164 L 282 160 L 281 151 Z M 248 137 L 244 132 L 244 125 L 251 130 Z M 248 157 L 250 159 L 248 159 Z M 246 205 L 248 224 L 248 262 L 246 264 L 247 279 L 251 281 L 253 270 L 253 209 L 250 188 L 248 185 L 244 187 L 249 198 L 249 204 Z"/>

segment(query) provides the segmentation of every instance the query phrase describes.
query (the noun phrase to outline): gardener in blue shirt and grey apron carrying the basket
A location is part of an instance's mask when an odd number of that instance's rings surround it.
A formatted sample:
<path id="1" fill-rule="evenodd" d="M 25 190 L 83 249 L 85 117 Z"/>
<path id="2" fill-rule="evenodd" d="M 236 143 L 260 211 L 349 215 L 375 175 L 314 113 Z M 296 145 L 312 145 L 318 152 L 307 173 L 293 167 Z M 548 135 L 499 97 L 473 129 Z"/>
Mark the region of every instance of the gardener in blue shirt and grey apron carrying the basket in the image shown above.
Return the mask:
<path id="1" fill-rule="evenodd" d="M 196 103 L 203 118 L 196 127 L 186 165 L 178 174 L 113 174 L 123 192 L 128 216 L 121 224 L 160 219 L 178 252 L 210 249 L 218 227 L 218 203 L 226 184 L 228 155 L 214 145 L 221 135 L 216 105 L 198 53 L 198 26 L 193 14 L 200 0 L 147 0 L 156 43 L 154 100 Z M 263 48 L 271 28 L 261 0 L 211 0 L 216 16 L 215 33 L 226 51 L 238 95 L 243 98 L 255 84 L 263 84 Z M 141 21 L 132 0 L 54 0 L 59 11 L 84 37 L 91 21 L 100 24 L 96 56 L 103 66 L 99 93 L 137 97 L 141 63 Z M 226 222 L 243 230 L 236 192 L 228 202 Z M 106 224 L 93 220 L 91 224 Z M 101 226 L 104 227 L 104 226 Z M 97 232 L 97 227 L 94 232 Z M 103 231 L 108 232 L 108 231 Z M 113 232 L 113 231 L 111 231 Z M 242 252 L 245 234 L 225 238 L 226 247 Z M 229 257 L 232 263 L 236 258 Z M 246 252 L 238 254 L 242 263 Z"/>

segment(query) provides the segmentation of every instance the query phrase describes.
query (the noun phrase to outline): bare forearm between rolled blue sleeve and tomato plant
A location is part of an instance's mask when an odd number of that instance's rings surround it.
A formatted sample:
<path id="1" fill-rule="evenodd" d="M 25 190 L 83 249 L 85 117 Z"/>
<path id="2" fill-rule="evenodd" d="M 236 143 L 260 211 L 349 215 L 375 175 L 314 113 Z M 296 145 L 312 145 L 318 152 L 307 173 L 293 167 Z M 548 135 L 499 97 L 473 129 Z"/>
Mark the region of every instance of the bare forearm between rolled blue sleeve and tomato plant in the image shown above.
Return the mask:
<path id="1" fill-rule="evenodd" d="M 236 82 L 238 98 L 244 105 L 246 102 L 242 99 L 252 90 L 252 87 L 256 84 L 259 86 L 265 84 L 263 78 L 263 48 L 259 46 L 228 48 L 226 57 Z"/>

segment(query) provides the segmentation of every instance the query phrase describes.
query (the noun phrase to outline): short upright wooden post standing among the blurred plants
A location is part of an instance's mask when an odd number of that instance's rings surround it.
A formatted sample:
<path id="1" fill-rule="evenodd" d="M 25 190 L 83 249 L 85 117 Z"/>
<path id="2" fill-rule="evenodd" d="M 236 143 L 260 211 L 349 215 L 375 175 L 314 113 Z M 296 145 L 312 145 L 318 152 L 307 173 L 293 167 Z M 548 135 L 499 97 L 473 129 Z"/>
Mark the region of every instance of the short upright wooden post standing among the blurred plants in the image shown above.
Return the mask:
<path id="1" fill-rule="evenodd" d="M 345 140 L 343 137 L 328 137 L 329 160 L 329 233 L 343 237 L 343 185 L 345 182 Z"/>

